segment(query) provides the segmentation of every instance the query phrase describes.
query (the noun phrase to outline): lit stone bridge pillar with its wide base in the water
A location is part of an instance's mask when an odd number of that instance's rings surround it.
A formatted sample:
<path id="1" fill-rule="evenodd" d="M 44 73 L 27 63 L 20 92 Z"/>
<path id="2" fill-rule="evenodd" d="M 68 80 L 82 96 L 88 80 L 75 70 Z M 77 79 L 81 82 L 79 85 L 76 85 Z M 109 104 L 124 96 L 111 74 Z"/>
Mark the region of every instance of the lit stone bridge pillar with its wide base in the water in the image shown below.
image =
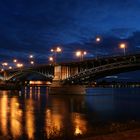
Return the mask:
<path id="1" fill-rule="evenodd" d="M 69 67 L 67 66 L 55 66 L 54 67 L 54 79 L 50 86 L 50 94 L 85 94 L 85 87 L 81 85 L 63 85 L 61 80 L 70 76 Z"/>

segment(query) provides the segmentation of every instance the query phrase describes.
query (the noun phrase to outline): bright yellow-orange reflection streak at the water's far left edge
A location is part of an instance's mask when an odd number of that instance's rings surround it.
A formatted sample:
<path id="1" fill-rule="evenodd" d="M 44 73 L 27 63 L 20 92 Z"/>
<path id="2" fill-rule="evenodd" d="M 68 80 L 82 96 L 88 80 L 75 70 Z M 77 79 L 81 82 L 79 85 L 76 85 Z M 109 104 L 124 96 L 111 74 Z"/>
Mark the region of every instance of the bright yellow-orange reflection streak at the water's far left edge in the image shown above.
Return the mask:
<path id="1" fill-rule="evenodd" d="M 5 93 L 6 91 L 3 91 L 3 95 L 0 98 L 0 124 L 3 135 L 7 134 L 7 109 L 8 109 L 8 97 Z"/>

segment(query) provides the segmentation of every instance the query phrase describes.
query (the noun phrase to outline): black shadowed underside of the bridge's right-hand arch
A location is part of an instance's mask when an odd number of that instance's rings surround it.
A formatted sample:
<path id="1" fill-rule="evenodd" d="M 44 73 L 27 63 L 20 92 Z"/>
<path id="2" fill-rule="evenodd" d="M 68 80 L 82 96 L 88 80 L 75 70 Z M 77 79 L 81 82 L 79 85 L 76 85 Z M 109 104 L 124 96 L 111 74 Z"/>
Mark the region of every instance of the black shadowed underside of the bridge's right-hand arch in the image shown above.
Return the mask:
<path id="1" fill-rule="evenodd" d="M 106 69 L 106 70 L 100 70 L 97 72 L 89 72 L 84 71 L 81 74 L 75 75 L 75 77 L 70 77 L 62 81 L 63 84 L 88 84 L 91 82 L 94 82 L 100 78 L 104 78 L 106 76 L 112 76 L 114 74 L 120 74 L 130 71 L 136 71 L 140 70 L 140 65 L 130 65 L 127 67 L 116 67 L 113 69 Z"/>

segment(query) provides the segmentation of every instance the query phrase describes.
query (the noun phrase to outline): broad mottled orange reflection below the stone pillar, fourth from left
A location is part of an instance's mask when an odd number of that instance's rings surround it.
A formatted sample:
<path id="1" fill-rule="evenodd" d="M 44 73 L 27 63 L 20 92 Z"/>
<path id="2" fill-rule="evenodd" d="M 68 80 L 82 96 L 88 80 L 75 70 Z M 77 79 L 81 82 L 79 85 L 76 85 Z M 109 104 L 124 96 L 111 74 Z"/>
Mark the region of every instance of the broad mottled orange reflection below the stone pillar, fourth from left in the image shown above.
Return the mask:
<path id="1" fill-rule="evenodd" d="M 65 102 L 61 99 L 53 99 L 51 101 L 52 109 L 46 110 L 46 135 L 47 138 L 51 136 L 61 136 L 64 127 L 64 117 L 67 113 Z"/>

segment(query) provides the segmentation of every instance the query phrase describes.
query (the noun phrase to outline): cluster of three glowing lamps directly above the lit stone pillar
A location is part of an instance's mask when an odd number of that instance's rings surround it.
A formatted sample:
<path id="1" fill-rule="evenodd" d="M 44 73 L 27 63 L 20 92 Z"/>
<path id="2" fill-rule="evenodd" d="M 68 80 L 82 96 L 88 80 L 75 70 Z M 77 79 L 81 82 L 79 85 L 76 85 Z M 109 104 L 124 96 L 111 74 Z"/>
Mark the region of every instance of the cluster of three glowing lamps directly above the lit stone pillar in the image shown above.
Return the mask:
<path id="1" fill-rule="evenodd" d="M 62 48 L 60 48 L 59 46 L 56 47 L 56 48 L 52 48 L 51 52 L 54 53 L 54 57 L 49 57 L 49 60 L 53 61 L 54 63 L 56 63 L 57 54 L 62 52 Z"/>

